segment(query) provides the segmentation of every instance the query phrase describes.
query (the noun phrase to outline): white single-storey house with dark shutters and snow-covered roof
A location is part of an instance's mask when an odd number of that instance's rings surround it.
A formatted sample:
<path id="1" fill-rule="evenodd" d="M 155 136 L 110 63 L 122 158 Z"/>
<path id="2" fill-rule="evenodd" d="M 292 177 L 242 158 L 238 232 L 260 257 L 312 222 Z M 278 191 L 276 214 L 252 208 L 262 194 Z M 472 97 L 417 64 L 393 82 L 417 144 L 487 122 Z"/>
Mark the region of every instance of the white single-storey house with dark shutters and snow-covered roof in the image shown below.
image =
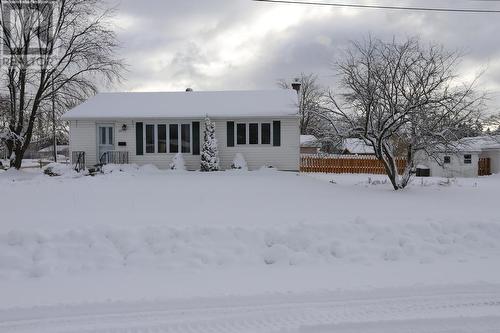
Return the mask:
<path id="1" fill-rule="evenodd" d="M 299 170 L 294 90 L 103 93 L 70 110 L 70 151 L 86 165 L 108 161 L 166 169 L 177 153 L 199 170 L 205 116 L 216 125 L 222 169 L 241 153 L 251 170 Z M 75 162 L 75 161 L 73 161 Z"/>

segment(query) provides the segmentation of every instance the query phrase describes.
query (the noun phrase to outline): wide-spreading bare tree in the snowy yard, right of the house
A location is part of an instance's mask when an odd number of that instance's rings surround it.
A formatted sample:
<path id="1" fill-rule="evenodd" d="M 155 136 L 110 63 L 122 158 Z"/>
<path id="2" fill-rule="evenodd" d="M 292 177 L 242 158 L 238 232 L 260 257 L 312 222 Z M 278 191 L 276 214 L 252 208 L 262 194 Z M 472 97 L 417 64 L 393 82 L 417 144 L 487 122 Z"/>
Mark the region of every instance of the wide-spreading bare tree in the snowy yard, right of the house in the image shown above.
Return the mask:
<path id="1" fill-rule="evenodd" d="M 327 119 L 343 137 L 372 146 L 395 190 L 405 188 L 417 155 L 436 157 L 463 137 L 462 124 L 475 121 L 484 96 L 476 81 L 460 83 L 461 57 L 417 38 L 352 43 L 337 64 L 340 94 L 328 95 Z M 399 174 L 397 154 L 407 158 Z"/>

